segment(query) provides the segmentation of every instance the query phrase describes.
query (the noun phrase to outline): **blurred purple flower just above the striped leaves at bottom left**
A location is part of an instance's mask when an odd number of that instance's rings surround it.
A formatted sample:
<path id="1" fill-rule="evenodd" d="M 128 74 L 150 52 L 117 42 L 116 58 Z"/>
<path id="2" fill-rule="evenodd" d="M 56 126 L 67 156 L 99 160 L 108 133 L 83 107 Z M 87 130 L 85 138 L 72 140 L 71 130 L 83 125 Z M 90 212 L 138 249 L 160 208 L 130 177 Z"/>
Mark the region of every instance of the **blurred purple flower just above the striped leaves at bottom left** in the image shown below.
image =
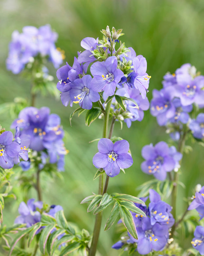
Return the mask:
<path id="1" fill-rule="evenodd" d="M 18 212 L 20 213 L 20 216 L 18 216 L 14 223 L 26 223 L 27 227 L 31 227 L 34 225 L 36 222 L 39 222 L 41 219 L 41 214 L 37 210 L 42 209 L 43 207 L 43 202 L 41 201 L 36 201 L 34 202 L 35 199 L 31 198 L 28 200 L 27 205 L 25 202 L 21 202 L 18 208 Z"/>

